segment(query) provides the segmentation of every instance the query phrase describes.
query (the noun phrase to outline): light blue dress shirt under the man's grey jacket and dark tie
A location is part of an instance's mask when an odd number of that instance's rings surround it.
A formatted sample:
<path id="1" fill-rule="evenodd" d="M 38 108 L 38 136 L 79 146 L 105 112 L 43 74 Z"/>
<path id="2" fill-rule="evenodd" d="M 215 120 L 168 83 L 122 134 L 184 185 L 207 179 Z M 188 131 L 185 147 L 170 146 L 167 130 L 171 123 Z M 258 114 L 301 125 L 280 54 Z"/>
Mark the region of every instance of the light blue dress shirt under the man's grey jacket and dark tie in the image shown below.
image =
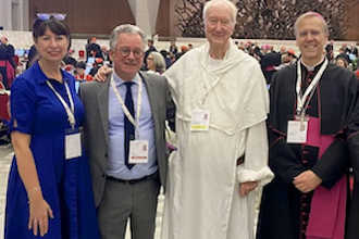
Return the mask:
<path id="1" fill-rule="evenodd" d="M 136 74 L 132 79 L 135 84 L 132 86 L 132 96 L 134 99 L 135 117 L 137 116 L 137 97 L 138 97 L 138 78 L 140 76 Z M 121 79 L 113 72 L 113 79 L 115 86 L 120 92 L 121 98 L 125 101 L 126 86 L 125 81 Z M 154 124 L 152 117 L 152 110 L 149 102 L 148 93 L 146 90 L 146 84 L 143 80 L 143 100 L 141 110 L 139 116 L 139 136 L 136 133 L 136 139 L 148 140 L 148 163 L 136 164 L 132 169 L 128 169 L 124 160 L 124 113 L 121 108 L 120 101 L 116 98 L 111 84 L 109 89 L 109 162 L 107 167 L 107 175 L 115 178 L 131 180 L 151 175 L 157 172 L 157 153 L 154 141 Z M 137 120 L 135 118 L 137 122 Z"/>

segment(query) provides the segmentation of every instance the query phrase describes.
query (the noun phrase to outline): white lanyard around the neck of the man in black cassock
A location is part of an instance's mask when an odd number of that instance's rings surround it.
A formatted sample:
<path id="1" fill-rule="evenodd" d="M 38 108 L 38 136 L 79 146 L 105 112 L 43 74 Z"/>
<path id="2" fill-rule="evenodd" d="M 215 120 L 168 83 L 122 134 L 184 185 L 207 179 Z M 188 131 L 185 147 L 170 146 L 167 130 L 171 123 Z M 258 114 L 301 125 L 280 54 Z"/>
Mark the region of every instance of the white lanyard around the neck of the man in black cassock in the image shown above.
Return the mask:
<path id="1" fill-rule="evenodd" d="M 296 86 L 296 92 L 297 92 L 297 114 L 305 116 L 306 115 L 306 110 L 308 108 L 309 101 L 311 100 L 317 85 L 322 77 L 329 62 L 327 59 L 325 58 L 324 64 L 320 67 L 319 72 L 317 73 L 314 79 L 310 83 L 310 85 L 307 87 L 305 93 L 301 96 L 301 66 L 300 66 L 300 60 L 297 61 L 297 86 Z M 310 98 L 307 100 L 307 97 L 310 95 Z"/>

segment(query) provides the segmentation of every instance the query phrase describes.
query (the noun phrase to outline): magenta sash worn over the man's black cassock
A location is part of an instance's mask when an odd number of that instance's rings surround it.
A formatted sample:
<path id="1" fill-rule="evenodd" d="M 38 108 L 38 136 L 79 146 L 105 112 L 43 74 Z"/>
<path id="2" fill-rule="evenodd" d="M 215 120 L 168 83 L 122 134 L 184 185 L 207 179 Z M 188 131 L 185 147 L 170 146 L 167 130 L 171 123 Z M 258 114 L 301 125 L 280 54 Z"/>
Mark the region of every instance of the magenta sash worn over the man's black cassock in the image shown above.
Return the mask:
<path id="1" fill-rule="evenodd" d="M 319 160 L 334 140 L 333 136 L 320 135 L 320 121 L 310 117 L 307 144 L 319 147 Z M 311 200 L 307 239 L 344 239 L 346 190 L 346 176 L 343 176 L 331 190 L 321 185 L 317 187 Z"/>

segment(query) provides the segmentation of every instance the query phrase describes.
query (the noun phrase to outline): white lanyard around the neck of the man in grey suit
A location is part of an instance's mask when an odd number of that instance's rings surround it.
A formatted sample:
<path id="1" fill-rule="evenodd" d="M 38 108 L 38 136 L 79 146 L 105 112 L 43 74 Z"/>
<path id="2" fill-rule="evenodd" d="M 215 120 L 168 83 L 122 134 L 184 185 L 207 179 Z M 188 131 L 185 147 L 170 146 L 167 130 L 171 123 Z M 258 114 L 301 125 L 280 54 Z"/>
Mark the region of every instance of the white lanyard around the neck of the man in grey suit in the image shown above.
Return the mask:
<path id="1" fill-rule="evenodd" d="M 139 136 L 139 116 L 140 116 L 140 110 L 141 110 L 141 101 L 143 101 L 143 80 L 141 78 L 138 76 L 138 74 L 136 75 L 137 79 L 138 79 L 138 95 L 137 95 L 137 115 L 136 115 L 136 122 L 135 118 L 132 116 L 132 114 L 129 113 L 127 106 L 125 105 L 125 103 L 123 102 L 120 92 L 114 84 L 114 79 L 113 79 L 113 74 L 111 76 L 111 87 L 112 90 L 114 92 L 114 95 L 117 97 L 117 100 L 121 104 L 121 108 L 123 110 L 123 113 L 126 115 L 126 117 L 128 118 L 128 121 L 136 127 L 136 133 L 137 133 L 137 137 Z"/>

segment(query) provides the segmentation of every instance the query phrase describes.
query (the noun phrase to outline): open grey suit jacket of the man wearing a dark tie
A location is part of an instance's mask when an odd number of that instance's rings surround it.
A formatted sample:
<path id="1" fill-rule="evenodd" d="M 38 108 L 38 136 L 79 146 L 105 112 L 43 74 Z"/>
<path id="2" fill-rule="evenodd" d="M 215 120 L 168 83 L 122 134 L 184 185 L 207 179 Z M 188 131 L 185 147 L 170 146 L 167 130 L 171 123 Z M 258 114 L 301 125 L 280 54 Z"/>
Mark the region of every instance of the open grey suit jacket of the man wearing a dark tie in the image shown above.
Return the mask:
<path id="1" fill-rule="evenodd" d="M 109 149 L 109 88 L 110 74 L 106 83 L 83 83 L 79 96 L 85 105 L 84 139 L 89 160 L 96 207 L 100 204 L 108 164 Z M 139 72 L 148 92 L 153 124 L 157 161 L 160 181 L 165 187 L 168 174 L 168 149 L 165 144 L 165 120 L 174 126 L 175 106 L 170 97 L 164 76 Z M 172 127 L 173 128 L 173 127 Z"/>

